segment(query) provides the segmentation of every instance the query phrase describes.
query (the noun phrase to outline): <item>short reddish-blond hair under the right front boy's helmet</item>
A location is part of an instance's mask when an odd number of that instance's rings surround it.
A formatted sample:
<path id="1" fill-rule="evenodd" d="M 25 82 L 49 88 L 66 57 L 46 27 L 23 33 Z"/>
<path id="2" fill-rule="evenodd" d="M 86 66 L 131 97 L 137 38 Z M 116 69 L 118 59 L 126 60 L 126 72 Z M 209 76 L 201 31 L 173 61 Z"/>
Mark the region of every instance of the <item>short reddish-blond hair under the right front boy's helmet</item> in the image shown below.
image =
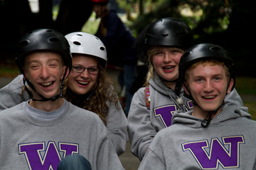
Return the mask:
<path id="1" fill-rule="evenodd" d="M 186 70 L 184 79 L 185 79 L 185 82 L 187 83 L 187 85 L 189 85 L 188 80 L 189 80 L 189 74 L 190 74 L 191 69 L 195 69 L 195 67 L 200 65 L 200 64 L 202 64 L 204 67 L 208 66 L 208 65 L 209 66 L 215 66 L 215 65 L 223 66 L 227 81 L 230 80 L 230 73 L 228 71 L 228 67 L 225 66 L 224 62 L 220 62 L 218 60 L 200 60 L 198 62 L 195 62 L 195 63 L 191 64 L 191 66 L 189 66 L 188 69 Z"/>

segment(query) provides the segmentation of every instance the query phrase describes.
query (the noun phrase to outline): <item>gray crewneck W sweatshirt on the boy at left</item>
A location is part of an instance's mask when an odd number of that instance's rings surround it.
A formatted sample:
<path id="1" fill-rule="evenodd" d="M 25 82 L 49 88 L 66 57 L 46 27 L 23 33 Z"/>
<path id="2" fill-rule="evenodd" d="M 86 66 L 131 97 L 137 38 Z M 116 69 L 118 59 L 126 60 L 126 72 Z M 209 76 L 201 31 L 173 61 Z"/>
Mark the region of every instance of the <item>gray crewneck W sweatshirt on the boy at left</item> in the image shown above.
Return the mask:
<path id="1" fill-rule="evenodd" d="M 65 155 L 83 155 L 92 169 L 124 169 L 100 118 L 65 101 L 53 120 L 38 120 L 27 102 L 0 112 L 0 169 L 57 169 Z"/>

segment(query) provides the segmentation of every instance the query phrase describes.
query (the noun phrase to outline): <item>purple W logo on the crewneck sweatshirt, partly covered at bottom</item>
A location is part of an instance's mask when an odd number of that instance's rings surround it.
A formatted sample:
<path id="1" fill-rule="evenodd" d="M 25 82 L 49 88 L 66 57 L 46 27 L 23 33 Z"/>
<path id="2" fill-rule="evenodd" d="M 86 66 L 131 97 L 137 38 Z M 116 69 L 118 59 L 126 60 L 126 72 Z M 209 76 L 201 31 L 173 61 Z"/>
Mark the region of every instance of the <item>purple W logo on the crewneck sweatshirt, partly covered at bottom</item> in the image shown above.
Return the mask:
<path id="1" fill-rule="evenodd" d="M 78 145 L 72 143 L 59 143 L 60 152 L 63 157 L 78 153 Z M 42 157 L 41 153 L 44 152 Z M 47 148 L 45 143 L 26 143 L 19 145 L 19 154 L 24 154 L 29 169 L 49 170 L 57 169 L 61 160 L 60 153 L 54 142 L 49 142 Z"/>

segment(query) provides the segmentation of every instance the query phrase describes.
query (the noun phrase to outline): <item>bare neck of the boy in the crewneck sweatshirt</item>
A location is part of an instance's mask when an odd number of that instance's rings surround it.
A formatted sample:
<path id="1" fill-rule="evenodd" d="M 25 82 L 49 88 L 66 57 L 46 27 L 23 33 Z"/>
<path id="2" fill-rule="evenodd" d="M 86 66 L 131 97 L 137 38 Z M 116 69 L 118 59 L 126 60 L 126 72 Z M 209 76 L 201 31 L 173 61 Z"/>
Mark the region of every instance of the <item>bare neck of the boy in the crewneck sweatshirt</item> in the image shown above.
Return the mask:
<path id="1" fill-rule="evenodd" d="M 29 101 L 29 105 L 37 110 L 54 111 L 58 110 L 64 103 L 64 100 L 59 98 L 56 101 Z"/>

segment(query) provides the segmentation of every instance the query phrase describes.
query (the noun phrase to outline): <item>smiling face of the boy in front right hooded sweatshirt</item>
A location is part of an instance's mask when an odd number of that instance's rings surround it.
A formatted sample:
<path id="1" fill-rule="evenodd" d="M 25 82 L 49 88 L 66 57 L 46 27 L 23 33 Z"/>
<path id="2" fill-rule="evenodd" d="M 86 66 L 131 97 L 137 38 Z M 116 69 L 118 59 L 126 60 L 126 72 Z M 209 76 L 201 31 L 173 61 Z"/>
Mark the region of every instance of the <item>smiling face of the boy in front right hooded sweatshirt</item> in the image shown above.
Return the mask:
<path id="1" fill-rule="evenodd" d="M 225 69 L 219 64 L 214 66 L 199 64 L 189 71 L 187 83 L 191 96 L 200 106 L 200 108 L 194 107 L 193 115 L 205 118 L 205 114 L 221 106 L 226 94 L 232 89 L 234 81 L 231 79 L 228 85 Z"/>

